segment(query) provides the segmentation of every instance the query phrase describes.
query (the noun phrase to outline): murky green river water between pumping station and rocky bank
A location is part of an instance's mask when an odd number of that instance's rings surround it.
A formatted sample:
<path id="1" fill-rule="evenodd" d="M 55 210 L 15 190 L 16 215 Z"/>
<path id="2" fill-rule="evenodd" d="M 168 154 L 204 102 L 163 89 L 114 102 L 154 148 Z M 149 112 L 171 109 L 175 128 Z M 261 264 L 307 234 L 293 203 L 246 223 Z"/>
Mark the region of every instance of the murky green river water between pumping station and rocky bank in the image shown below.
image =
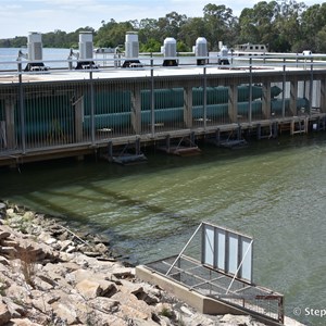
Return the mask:
<path id="1" fill-rule="evenodd" d="M 201 221 L 254 238 L 254 281 L 286 296 L 286 312 L 326 325 L 326 135 L 205 146 L 192 158 L 147 153 L 143 165 L 64 161 L 0 170 L 0 198 L 108 236 L 146 263 L 178 253 Z"/>

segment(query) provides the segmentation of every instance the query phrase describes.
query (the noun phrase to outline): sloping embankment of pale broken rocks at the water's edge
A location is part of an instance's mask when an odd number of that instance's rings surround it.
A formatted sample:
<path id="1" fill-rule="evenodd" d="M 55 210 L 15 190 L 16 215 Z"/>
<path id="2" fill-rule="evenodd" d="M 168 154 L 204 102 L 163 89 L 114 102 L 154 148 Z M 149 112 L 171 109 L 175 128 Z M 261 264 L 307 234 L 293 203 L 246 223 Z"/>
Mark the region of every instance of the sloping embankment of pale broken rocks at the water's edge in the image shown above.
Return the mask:
<path id="1" fill-rule="evenodd" d="M 196 313 L 52 217 L 0 202 L 0 325 L 262 325 Z"/>

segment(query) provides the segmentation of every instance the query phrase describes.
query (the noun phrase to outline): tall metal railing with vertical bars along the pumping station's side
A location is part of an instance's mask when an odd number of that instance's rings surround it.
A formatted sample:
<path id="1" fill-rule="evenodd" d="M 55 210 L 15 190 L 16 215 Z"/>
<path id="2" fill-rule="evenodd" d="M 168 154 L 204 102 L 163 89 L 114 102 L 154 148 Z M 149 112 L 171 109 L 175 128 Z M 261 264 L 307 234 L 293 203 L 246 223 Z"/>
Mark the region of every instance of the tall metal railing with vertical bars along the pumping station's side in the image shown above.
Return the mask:
<path id="1" fill-rule="evenodd" d="M 82 71 L 51 68 L 77 63 L 55 60 L 32 72 L 24 62 L 16 71 L 0 62 L 0 156 L 322 114 L 321 57 L 228 58 L 223 66 L 217 57 L 204 58 L 205 65 L 185 57 L 167 67 L 162 57 L 143 57 L 128 68 L 118 66 L 122 58 L 105 58 Z"/>

